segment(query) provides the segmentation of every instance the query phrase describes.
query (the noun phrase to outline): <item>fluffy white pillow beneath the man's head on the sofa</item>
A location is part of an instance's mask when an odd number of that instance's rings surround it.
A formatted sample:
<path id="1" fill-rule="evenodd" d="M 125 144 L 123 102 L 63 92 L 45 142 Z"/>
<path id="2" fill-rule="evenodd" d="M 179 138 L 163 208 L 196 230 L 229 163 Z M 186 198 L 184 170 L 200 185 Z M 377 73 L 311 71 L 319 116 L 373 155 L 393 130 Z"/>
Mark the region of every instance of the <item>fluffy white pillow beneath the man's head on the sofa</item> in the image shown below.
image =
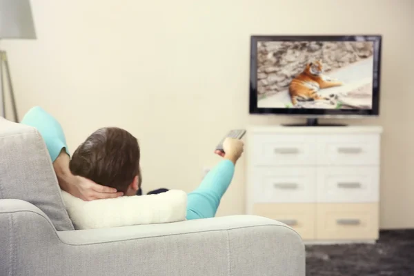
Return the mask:
<path id="1" fill-rule="evenodd" d="M 169 190 L 158 195 L 135 195 L 83 201 L 62 190 L 66 210 L 76 229 L 162 224 L 186 220 L 187 194 Z"/>

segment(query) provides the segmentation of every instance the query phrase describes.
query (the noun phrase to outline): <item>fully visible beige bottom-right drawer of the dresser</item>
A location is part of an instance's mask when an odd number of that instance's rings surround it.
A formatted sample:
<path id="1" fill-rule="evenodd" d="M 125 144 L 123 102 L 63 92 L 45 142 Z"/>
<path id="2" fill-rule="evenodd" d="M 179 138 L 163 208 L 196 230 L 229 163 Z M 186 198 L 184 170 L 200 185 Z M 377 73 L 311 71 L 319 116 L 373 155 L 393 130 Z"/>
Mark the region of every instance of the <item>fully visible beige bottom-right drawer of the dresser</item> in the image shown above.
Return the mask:
<path id="1" fill-rule="evenodd" d="M 378 204 L 317 204 L 317 239 L 377 239 Z"/>

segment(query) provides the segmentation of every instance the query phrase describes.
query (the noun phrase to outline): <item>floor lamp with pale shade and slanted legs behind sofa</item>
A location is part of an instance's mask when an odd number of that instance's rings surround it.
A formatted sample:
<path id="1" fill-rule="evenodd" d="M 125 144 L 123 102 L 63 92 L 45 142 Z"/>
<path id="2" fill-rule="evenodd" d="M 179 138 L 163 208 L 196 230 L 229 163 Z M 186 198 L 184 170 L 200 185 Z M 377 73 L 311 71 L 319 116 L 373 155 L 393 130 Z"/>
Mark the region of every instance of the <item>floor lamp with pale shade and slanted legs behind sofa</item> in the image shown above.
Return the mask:
<path id="1" fill-rule="evenodd" d="M 0 41 L 3 39 L 36 39 L 32 9 L 29 0 L 0 0 Z M 8 90 L 12 102 L 14 121 L 19 121 L 16 99 L 12 86 L 12 77 L 6 51 L 0 49 L 0 103 L 1 117 L 6 117 L 6 99 L 4 90 L 4 72 L 6 72 Z"/>

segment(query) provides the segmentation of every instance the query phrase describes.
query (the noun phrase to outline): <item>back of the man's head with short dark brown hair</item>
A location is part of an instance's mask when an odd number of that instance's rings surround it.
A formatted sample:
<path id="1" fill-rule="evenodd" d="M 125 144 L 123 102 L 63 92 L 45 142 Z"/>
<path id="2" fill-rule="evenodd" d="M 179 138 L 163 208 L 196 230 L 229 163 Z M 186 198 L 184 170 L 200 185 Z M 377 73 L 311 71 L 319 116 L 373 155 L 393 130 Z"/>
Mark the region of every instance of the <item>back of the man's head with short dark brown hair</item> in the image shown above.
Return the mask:
<path id="1" fill-rule="evenodd" d="M 73 153 L 72 174 L 135 195 L 141 186 L 137 138 L 121 128 L 100 128 Z"/>

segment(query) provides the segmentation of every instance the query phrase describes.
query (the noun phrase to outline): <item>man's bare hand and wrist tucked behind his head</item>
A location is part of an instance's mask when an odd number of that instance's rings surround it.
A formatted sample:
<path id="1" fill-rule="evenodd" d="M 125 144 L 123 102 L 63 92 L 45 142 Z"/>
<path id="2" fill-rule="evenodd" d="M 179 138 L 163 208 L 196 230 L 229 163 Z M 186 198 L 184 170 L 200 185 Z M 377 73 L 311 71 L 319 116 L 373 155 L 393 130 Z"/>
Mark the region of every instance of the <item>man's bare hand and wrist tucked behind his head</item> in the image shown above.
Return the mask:
<path id="1" fill-rule="evenodd" d="M 85 177 L 72 175 L 69 169 L 69 161 L 69 155 L 62 149 L 57 159 L 53 162 L 57 181 L 62 190 L 85 201 L 115 198 L 123 195 L 121 192 L 117 193 L 115 188 L 102 186 Z"/>

